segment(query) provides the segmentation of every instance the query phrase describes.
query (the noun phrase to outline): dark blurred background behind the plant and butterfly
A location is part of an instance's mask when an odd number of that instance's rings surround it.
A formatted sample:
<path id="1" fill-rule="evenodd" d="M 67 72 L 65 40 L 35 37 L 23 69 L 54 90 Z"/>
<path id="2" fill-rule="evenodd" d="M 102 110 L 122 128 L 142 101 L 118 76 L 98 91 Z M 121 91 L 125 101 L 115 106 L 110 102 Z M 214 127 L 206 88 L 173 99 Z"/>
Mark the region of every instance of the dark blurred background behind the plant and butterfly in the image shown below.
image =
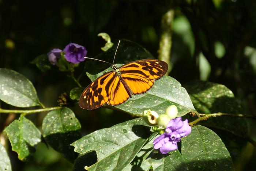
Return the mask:
<path id="1" fill-rule="evenodd" d="M 256 115 L 256 2 L 253 0 L 0 0 L 0 67 L 13 69 L 29 78 L 46 107 L 57 106 L 58 96 L 77 87 L 65 73 L 52 69 L 41 72 L 30 64 L 36 56 L 69 42 L 83 45 L 87 56 L 101 53 L 105 45 L 98 33 L 125 38 L 145 47 L 158 57 L 161 19 L 174 9 L 172 26 L 173 64 L 170 76 L 181 84 L 200 79 L 223 84 L 240 100 L 244 114 Z M 118 58 L 118 57 L 117 57 Z M 111 61 L 111 59 L 106 59 Z M 79 71 L 79 70 L 78 70 Z M 84 76 L 86 87 L 90 80 Z M 13 109 L 0 102 L 3 109 Z M 99 108 L 71 109 L 82 124 L 83 135 L 131 119 L 125 113 Z M 45 114 L 30 115 L 40 128 Z M 17 116 L 0 115 L 4 124 Z M 249 134 L 256 138 L 255 122 Z M 241 147 L 233 159 L 236 170 L 255 167 L 255 148 Z M 44 144 L 29 162 L 18 160 L 10 151 L 13 170 L 71 170 L 72 164 Z"/>

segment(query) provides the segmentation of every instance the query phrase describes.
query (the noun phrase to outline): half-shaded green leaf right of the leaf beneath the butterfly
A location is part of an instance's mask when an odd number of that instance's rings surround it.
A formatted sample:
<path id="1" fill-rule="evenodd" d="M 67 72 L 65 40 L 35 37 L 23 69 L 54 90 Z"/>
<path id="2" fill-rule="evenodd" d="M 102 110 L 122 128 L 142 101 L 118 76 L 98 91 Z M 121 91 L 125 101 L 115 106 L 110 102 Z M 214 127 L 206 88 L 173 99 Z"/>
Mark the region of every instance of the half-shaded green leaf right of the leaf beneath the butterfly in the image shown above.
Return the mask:
<path id="1" fill-rule="evenodd" d="M 184 87 L 199 113 L 239 113 L 241 106 L 233 92 L 224 85 L 197 80 Z"/>

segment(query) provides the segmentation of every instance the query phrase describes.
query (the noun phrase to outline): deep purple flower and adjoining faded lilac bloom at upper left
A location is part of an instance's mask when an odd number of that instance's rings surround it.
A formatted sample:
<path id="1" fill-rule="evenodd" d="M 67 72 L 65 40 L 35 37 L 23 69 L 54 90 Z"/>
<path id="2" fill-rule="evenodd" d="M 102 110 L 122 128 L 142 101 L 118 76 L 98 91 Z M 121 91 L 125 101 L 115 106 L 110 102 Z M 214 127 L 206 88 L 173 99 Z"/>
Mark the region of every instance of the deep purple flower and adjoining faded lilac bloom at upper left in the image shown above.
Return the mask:
<path id="1" fill-rule="evenodd" d="M 85 60 L 87 50 L 84 46 L 78 45 L 76 43 L 69 43 L 63 50 L 52 49 L 48 54 L 48 59 L 52 65 L 55 65 L 57 59 L 61 57 L 61 52 L 65 52 L 65 59 L 73 64 L 78 64 Z"/>

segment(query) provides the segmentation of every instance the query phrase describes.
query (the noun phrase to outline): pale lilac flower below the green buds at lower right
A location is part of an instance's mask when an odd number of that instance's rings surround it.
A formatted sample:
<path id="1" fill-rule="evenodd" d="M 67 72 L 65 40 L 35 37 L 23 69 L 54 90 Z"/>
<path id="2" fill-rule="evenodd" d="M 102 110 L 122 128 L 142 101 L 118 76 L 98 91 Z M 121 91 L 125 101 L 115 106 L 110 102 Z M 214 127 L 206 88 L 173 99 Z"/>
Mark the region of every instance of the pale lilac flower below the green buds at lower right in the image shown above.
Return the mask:
<path id="1" fill-rule="evenodd" d="M 182 121 L 181 117 L 172 119 L 166 126 L 165 132 L 153 141 L 154 149 L 160 148 L 160 152 L 163 154 L 176 150 L 178 149 L 177 142 L 190 132 L 191 127 L 188 125 L 188 119 L 185 121 Z"/>

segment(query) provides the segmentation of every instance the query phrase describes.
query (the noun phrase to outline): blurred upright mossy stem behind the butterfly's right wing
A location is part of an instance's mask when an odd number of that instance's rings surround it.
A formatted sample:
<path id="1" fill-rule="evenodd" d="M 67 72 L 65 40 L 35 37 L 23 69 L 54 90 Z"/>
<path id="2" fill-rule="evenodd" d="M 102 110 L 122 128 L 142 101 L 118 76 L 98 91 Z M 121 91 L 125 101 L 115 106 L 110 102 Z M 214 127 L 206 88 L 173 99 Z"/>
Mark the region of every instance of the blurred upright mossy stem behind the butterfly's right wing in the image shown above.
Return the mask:
<path id="1" fill-rule="evenodd" d="M 161 22 L 162 33 L 159 42 L 158 59 L 165 61 L 168 64 L 168 73 L 172 70 L 172 63 L 170 62 L 172 49 L 172 24 L 174 18 L 174 9 L 167 11 Z"/>

